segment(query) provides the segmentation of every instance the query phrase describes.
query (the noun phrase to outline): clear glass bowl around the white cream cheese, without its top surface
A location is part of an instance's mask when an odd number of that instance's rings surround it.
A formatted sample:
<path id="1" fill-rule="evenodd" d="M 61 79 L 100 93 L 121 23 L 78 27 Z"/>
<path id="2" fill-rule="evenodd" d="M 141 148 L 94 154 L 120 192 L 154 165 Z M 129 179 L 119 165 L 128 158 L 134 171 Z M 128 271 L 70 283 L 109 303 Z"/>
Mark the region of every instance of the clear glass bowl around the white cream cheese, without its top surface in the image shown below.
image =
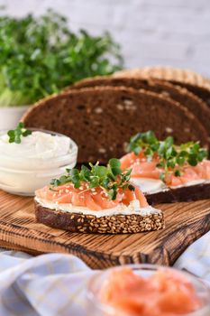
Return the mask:
<path id="1" fill-rule="evenodd" d="M 30 156 L 30 149 L 23 152 L 23 156 L 9 155 L 0 152 L 0 189 L 9 193 L 33 196 L 34 191 L 50 183 L 53 178 L 59 178 L 66 169 L 74 168 L 77 163 L 78 145 L 66 135 L 42 129 L 29 128 L 32 132 L 66 137 L 69 142 L 68 152 L 49 158 L 46 151 L 39 157 Z M 7 131 L 1 131 L 5 135 Z M 18 149 L 19 144 L 14 147 Z"/>

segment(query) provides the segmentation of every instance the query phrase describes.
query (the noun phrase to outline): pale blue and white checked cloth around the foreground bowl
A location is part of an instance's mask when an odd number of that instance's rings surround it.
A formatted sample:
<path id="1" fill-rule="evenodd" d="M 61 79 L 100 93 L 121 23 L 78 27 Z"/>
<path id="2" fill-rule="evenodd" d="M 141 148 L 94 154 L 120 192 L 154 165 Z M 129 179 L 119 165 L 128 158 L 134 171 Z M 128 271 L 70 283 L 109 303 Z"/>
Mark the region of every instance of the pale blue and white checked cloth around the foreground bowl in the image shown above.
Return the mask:
<path id="1" fill-rule="evenodd" d="M 210 282 L 210 232 L 189 246 L 174 265 Z M 0 253 L 0 315 L 90 316 L 86 286 L 96 271 L 78 257 Z"/>

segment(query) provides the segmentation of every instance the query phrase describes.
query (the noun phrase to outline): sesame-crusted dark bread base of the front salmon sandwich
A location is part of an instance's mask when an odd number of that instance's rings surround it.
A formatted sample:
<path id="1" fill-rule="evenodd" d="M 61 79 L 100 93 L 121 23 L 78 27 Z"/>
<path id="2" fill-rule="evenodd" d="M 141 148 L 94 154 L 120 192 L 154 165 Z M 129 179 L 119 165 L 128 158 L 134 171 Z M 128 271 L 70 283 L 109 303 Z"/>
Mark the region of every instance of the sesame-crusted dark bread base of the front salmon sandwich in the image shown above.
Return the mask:
<path id="1" fill-rule="evenodd" d="M 144 216 L 132 214 L 97 218 L 94 215 L 44 208 L 37 201 L 34 201 L 34 208 L 38 222 L 74 233 L 131 234 L 164 228 L 161 210 Z"/>

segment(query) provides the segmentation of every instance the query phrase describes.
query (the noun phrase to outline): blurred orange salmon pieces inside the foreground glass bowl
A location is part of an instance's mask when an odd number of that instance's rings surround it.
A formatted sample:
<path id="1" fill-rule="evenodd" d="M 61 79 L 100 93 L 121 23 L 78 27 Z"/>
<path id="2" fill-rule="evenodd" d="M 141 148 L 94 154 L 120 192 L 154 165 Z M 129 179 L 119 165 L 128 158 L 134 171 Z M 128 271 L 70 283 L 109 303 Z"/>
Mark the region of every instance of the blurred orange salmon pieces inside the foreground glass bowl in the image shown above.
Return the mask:
<path id="1" fill-rule="evenodd" d="M 114 316 L 178 316 L 202 306 L 192 283 L 182 274 L 160 270 L 142 277 L 129 267 L 106 275 L 99 299 L 114 308 Z"/>

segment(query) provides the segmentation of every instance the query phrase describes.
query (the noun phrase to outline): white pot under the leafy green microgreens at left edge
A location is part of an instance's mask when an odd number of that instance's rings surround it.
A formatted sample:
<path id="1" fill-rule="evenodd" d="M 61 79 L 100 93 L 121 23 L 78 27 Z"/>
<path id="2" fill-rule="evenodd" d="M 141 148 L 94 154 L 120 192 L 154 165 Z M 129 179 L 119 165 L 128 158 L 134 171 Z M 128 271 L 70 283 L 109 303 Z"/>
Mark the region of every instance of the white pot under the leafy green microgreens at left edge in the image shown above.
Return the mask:
<path id="1" fill-rule="evenodd" d="M 23 113 L 29 106 L 23 107 L 0 107 L 0 129 L 11 129 L 16 127 Z"/>

